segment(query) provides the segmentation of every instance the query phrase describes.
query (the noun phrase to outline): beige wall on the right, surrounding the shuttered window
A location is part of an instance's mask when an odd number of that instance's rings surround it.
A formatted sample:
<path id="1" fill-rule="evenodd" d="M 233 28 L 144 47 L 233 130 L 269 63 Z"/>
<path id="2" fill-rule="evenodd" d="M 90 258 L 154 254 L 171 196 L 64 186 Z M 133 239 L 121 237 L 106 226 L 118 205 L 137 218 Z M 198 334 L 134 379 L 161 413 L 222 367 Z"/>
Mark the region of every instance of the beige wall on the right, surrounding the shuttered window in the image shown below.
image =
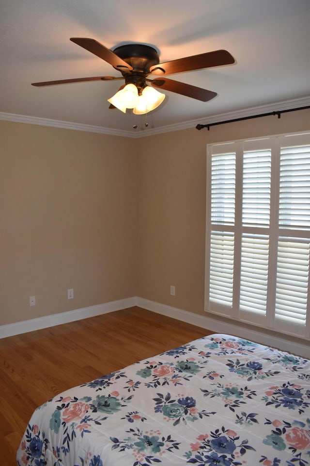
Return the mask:
<path id="1" fill-rule="evenodd" d="M 138 296 L 204 314 L 207 144 L 306 130 L 300 110 L 140 139 Z"/>

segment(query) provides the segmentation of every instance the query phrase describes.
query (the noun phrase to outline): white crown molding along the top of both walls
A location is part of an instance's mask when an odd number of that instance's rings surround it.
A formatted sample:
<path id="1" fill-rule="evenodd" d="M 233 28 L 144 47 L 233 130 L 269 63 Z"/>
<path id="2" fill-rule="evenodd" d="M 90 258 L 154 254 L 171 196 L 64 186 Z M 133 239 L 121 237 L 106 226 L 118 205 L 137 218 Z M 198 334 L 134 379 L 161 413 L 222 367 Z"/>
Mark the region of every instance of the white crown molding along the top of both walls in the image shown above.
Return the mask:
<path id="1" fill-rule="evenodd" d="M 282 100 L 267 105 L 259 105 L 249 107 L 234 112 L 221 113 L 217 115 L 205 116 L 195 120 L 184 121 L 172 125 L 161 126 L 158 128 L 148 128 L 132 133 L 132 131 L 115 130 L 112 128 L 104 128 L 101 126 L 84 125 L 82 123 L 74 123 L 71 121 L 53 120 L 48 118 L 39 118 L 36 116 L 16 115 L 13 113 L 0 112 L 0 120 L 15 121 L 17 123 L 29 123 L 32 125 L 52 126 L 55 128 L 64 128 L 76 131 L 86 131 L 89 133 L 109 134 L 112 136 L 123 136 L 138 139 L 140 137 L 148 137 L 156 134 L 171 133 L 173 131 L 186 130 L 196 127 L 197 124 L 211 124 L 228 119 L 242 118 L 246 116 L 258 115 L 260 113 L 277 112 L 281 110 L 289 110 L 291 108 L 305 107 L 310 105 L 310 97 L 304 97 L 294 100 Z M 205 120 L 205 121 L 202 121 Z"/>

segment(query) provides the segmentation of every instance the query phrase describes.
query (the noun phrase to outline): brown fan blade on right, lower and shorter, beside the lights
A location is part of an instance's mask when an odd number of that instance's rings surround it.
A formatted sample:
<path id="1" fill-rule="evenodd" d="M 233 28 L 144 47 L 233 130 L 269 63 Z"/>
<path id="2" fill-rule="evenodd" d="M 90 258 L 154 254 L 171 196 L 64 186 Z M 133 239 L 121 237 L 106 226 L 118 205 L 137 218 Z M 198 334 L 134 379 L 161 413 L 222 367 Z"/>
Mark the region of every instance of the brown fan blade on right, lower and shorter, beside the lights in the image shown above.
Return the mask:
<path id="1" fill-rule="evenodd" d="M 181 94 L 182 96 L 191 97 L 192 99 L 202 100 L 202 102 L 207 102 L 208 100 L 211 100 L 217 96 L 216 92 L 208 91 L 207 89 L 202 89 L 201 87 L 192 86 L 191 84 L 180 83 L 179 81 L 174 81 L 165 77 L 160 77 L 153 80 L 148 79 L 147 81 L 150 81 L 154 87 L 175 92 L 176 94 Z"/>

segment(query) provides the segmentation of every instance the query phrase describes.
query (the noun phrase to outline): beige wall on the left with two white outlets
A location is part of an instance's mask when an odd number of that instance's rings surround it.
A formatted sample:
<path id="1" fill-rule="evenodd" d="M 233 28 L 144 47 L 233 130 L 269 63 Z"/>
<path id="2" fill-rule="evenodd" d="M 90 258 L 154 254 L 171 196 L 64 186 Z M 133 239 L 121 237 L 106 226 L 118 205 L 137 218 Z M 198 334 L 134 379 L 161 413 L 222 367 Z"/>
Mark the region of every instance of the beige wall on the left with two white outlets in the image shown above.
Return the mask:
<path id="1" fill-rule="evenodd" d="M 135 140 L 6 121 L 0 140 L 0 325 L 135 296 Z"/>

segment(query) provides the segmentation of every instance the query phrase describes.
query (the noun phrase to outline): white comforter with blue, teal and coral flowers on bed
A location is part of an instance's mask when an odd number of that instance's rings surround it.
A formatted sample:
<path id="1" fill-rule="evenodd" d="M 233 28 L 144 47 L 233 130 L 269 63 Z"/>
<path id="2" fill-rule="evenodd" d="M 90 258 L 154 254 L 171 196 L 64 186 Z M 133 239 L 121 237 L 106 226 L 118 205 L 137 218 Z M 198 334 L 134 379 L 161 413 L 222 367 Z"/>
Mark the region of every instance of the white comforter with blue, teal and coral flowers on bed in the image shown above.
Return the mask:
<path id="1" fill-rule="evenodd" d="M 310 361 L 213 334 L 50 399 L 19 466 L 306 466 Z"/>

